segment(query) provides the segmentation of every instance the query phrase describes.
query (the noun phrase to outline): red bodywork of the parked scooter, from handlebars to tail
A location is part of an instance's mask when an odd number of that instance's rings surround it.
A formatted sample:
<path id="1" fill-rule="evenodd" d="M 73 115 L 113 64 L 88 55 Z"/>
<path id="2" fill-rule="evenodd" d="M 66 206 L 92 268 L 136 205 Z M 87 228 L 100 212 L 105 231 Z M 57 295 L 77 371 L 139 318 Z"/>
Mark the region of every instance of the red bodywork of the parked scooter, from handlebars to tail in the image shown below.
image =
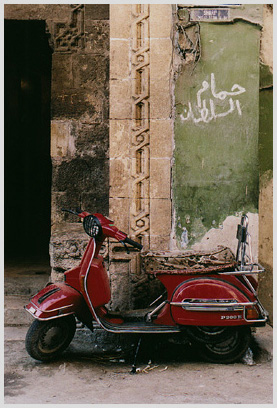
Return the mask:
<path id="1" fill-rule="evenodd" d="M 38 321 L 75 315 L 91 329 L 92 322 L 97 321 L 103 329 L 118 333 L 178 333 L 192 326 L 239 329 L 265 324 L 266 311 L 257 298 L 256 281 L 246 276 L 247 270 L 219 270 L 209 274 L 154 271 L 152 274 L 166 289 L 166 299 L 146 310 L 110 311 L 106 308 L 111 299 L 110 282 L 103 257 L 99 255 L 100 248 L 107 237 L 125 246 L 138 249 L 142 246 L 127 238 L 101 214 L 80 212 L 78 215 L 84 219 L 84 229 L 91 236 L 87 249 L 80 265 L 65 272 L 64 282 L 45 287 L 30 300 L 26 310 Z M 207 337 L 211 329 L 205 330 Z M 211 336 L 208 338 L 212 341 Z M 219 334 L 216 338 L 222 340 Z"/>

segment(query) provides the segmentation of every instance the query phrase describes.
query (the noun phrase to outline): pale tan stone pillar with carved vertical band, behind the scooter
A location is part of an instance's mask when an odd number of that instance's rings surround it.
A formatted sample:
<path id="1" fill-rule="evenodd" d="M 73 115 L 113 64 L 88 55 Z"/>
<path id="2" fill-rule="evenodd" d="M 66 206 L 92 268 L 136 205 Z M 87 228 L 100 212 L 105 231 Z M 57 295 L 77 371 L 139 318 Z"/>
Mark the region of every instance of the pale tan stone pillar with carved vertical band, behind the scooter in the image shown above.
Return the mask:
<path id="1" fill-rule="evenodd" d="M 110 217 L 145 250 L 170 244 L 171 30 L 171 5 L 110 6 Z M 139 255 L 111 242 L 110 274 L 113 308 L 139 305 Z"/>

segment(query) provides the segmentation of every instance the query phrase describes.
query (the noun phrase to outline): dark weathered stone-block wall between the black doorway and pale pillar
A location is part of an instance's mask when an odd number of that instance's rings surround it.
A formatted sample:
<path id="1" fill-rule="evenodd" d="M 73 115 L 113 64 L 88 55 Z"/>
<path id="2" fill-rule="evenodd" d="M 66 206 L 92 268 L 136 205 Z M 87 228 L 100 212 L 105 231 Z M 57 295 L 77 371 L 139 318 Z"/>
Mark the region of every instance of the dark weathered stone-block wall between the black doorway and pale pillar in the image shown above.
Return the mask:
<path id="1" fill-rule="evenodd" d="M 83 252 L 73 236 L 87 241 L 61 208 L 109 212 L 109 5 L 5 5 L 5 18 L 45 20 L 53 50 L 50 256 L 57 279 L 55 271 L 76 265 Z"/>

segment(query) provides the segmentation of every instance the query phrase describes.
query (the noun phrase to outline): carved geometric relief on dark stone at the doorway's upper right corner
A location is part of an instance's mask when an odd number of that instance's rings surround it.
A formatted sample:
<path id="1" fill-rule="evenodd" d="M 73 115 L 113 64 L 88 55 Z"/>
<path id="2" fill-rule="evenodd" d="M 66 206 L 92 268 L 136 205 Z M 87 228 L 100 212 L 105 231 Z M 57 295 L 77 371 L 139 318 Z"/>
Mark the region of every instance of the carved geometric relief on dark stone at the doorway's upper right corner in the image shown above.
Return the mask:
<path id="1" fill-rule="evenodd" d="M 67 22 L 55 22 L 53 42 L 56 52 L 69 52 L 84 48 L 84 5 L 70 4 L 70 17 Z"/>

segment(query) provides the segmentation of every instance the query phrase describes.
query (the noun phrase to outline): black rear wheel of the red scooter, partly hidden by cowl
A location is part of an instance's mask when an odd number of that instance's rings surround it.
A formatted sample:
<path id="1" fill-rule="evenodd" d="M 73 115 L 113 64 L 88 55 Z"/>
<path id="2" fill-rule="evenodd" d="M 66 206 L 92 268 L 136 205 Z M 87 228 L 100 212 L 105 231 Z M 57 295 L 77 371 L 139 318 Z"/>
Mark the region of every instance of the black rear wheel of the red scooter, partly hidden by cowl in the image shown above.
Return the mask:
<path id="1" fill-rule="evenodd" d="M 251 329 L 247 326 L 232 327 L 229 336 L 218 343 L 199 343 L 199 355 L 211 363 L 228 364 L 240 360 L 249 347 Z"/>

